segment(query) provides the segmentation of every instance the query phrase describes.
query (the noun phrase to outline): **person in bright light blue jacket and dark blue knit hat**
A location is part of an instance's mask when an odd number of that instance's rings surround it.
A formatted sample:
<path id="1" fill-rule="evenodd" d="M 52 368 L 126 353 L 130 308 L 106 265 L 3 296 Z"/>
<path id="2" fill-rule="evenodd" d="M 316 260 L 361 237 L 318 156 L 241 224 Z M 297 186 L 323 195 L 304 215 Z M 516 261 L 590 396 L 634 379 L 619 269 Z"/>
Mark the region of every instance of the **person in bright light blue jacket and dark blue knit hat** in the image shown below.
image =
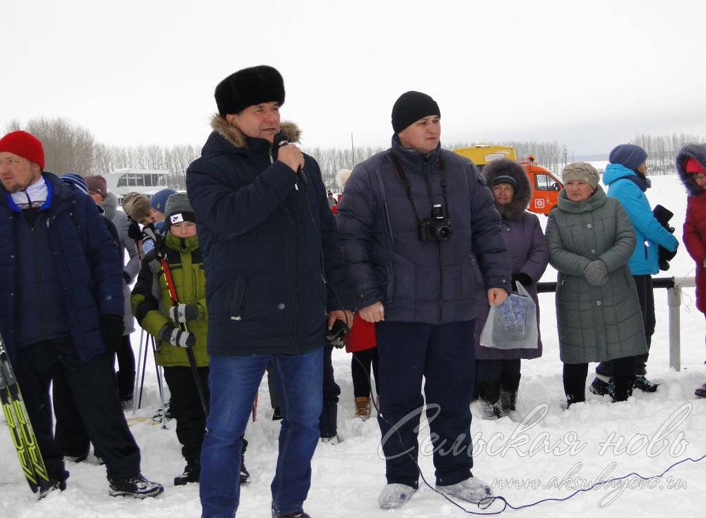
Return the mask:
<path id="1" fill-rule="evenodd" d="M 647 353 L 638 356 L 635 366 L 635 387 L 643 392 L 654 392 L 658 384 L 652 383 L 647 374 L 647 358 L 654 335 L 654 294 L 652 293 L 652 275 L 659 272 L 659 246 L 668 251 L 676 251 L 679 245 L 676 237 L 670 234 L 652 214 L 647 200 L 650 179 L 647 172 L 647 152 L 639 145 L 621 144 L 614 147 L 609 155 L 610 164 L 603 174 L 603 183 L 608 186 L 609 198 L 617 198 L 630 217 L 635 230 L 635 251 L 628 260 L 630 273 L 635 280 L 640 299 L 642 325 L 645 327 Z M 596 378 L 590 390 L 594 394 L 604 395 L 611 391 L 611 369 L 606 363 L 596 368 Z"/>

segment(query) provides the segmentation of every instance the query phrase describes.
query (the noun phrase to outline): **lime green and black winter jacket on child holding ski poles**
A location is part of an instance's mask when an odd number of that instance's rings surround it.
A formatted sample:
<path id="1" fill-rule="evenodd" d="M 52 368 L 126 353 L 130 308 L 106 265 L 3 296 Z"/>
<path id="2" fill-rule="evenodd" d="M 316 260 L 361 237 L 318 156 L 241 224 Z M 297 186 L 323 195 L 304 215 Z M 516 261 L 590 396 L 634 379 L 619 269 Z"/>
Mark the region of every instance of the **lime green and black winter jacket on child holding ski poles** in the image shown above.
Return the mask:
<path id="1" fill-rule="evenodd" d="M 198 236 L 181 239 L 168 232 L 160 250 L 166 255 L 179 303 L 196 303 L 198 306 L 200 318 L 187 322 L 186 330 L 196 336 L 196 344 L 191 348 L 196 366 L 208 366 L 206 277 L 201 250 L 198 248 Z M 177 327 L 177 324 L 169 319 L 168 311 L 172 306 L 172 299 L 164 280 L 162 265 L 157 260 L 156 249 L 145 255 L 142 261 L 130 303 L 140 326 L 153 337 L 157 337 L 164 324 Z M 157 364 L 163 367 L 189 366 L 189 359 L 183 347 L 176 347 L 162 340 L 157 340 L 156 360 Z"/>

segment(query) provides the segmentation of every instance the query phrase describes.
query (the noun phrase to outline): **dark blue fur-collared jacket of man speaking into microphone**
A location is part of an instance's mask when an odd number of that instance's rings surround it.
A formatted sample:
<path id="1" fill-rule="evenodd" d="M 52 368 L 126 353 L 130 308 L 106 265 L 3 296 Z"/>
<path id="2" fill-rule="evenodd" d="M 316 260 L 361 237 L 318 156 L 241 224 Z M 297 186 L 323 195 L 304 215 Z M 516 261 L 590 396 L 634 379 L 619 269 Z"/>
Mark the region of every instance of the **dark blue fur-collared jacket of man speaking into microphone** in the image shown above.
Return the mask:
<path id="1" fill-rule="evenodd" d="M 212 126 L 186 171 L 206 274 L 208 353 L 323 347 L 325 312 L 353 303 L 318 164 L 304 155 L 305 186 L 273 162 L 268 140 L 248 138 L 220 116 Z M 296 127 L 285 123 L 282 131 L 297 141 Z"/>

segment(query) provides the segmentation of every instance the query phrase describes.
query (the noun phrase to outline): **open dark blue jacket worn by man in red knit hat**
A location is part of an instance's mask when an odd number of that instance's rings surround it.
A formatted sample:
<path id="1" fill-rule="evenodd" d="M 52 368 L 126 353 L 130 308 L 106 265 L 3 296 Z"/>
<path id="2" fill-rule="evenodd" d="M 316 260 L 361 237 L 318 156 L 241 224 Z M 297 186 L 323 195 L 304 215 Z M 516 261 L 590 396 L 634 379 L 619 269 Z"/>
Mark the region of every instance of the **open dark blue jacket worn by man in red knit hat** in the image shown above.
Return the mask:
<path id="1" fill-rule="evenodd" d="M 65 332 L 88 361 L 105 352 L 100 316 L 123 315 L 122 263 L 93 200 L 54 174 L 43 176 L 50 198 L 38 212 L 34 236 L 0 188 L 0 333 L 14 358 L 17 347 Z M 40 253 L 40 246 L 48 249 Z"/>

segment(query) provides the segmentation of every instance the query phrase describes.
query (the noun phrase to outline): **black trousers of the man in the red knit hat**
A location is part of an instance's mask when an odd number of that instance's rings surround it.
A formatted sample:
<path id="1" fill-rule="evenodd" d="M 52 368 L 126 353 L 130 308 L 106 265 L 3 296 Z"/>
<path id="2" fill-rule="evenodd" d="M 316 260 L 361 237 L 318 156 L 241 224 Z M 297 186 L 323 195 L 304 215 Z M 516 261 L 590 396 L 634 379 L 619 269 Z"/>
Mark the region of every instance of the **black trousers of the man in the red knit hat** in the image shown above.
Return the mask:
<path id="1" fill-rule="evenodd" d="M 16 371 L 50 478 L 67 476 L 64 454 L 52 433 L 49 385 L 55 375 L 63 375 L 90 441 L 105 461 L 108 478 L 140 473 L 140 450 L 120 407 L 112 354 L 84 362 L 71 339 L 37 342 L 18 349 Z"/>

